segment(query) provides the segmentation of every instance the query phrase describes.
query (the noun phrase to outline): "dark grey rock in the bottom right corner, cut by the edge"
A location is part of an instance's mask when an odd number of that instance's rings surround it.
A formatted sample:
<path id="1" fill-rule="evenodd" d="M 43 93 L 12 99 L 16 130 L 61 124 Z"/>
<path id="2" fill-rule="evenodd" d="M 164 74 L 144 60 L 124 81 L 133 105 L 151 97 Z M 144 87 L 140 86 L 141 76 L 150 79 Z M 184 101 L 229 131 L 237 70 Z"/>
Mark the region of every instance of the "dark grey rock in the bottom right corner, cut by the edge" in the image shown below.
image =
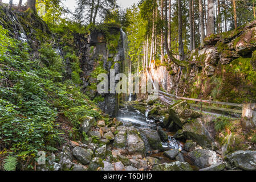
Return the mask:
<path id="1" fill-rule="evenodd" d="M 256 171 L 256 151 L 236 151 L 225 156 L 224 160 L 233 167 L 246 171 Z"/>

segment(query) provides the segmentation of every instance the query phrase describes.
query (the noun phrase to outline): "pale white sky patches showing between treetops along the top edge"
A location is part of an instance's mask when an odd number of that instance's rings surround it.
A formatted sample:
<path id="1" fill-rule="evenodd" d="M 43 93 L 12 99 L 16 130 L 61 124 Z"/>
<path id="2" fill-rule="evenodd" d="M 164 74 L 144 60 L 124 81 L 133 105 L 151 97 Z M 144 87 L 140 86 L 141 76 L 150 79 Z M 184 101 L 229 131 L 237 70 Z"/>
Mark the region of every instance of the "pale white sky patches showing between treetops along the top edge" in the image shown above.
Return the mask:
<path id="1" fill-rule="evenodd" d="M 23 0 L 23 4 L 26 3 L 26 0 Z M 133 3 L 137 4 L 139 0 L 117 0 L 117 4 L 121 6 L 122 8 L 127 8 L 133 5 Z M 3 3 L 9 3 L 9 0 L 3 0 Z M 18 5 L 19 0 L 13 0 L 13 3 Z M 74 10 L 76 6 L 75 0 L 66 0 L 63 1 L 64 5 L 68 7 L 70 10 Z"/>

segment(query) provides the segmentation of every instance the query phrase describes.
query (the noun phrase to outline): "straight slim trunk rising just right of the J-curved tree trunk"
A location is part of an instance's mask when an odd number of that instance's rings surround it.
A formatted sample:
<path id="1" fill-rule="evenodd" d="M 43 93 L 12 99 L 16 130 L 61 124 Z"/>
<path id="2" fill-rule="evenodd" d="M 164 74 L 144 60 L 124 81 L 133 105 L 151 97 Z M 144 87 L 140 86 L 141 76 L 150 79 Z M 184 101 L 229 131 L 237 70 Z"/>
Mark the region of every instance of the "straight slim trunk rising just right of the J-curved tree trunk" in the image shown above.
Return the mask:
<path id="1" fill-rule="evenodd" d="M 180 55 L 180 60 L 185 59 L 183 39 L 182 39 L 182 15 L 181 15 L 181 0 L 178 1 L 178 54 Z"/>

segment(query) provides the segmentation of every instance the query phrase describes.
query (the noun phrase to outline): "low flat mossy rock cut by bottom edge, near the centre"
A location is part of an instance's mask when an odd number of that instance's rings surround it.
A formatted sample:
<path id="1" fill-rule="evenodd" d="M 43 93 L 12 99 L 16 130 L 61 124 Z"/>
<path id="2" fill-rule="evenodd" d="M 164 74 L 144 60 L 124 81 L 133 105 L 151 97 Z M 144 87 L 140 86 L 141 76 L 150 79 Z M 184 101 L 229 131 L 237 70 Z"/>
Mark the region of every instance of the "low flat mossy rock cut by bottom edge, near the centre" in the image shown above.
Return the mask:
<path id="1" fill-rule="evenodd" d="M 193 171 L 193 169 L 189 163 L 176 161 L 169 164 L 159 164 L 153 167 L 153 171 Z"/>

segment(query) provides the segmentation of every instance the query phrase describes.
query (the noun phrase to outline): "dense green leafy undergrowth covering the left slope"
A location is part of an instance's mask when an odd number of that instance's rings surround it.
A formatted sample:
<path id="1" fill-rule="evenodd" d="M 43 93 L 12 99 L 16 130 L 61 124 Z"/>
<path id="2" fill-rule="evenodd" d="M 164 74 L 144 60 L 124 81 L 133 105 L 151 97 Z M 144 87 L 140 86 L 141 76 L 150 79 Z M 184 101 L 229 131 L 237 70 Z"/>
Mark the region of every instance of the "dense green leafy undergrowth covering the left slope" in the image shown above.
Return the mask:
<path id="1" fill-rule="evenodd" d="M 77 78 L 64 80 L 65 57 L 50 44 L 31 53 L 1 26 L 0 32 L 0 164 L 12 156 L 17 169 L 34 169 L 38 151 L 56 151 L 65 137 L 83 137 L 83 117 L 101 119 L 101 111 L 80 92 Z"/>

